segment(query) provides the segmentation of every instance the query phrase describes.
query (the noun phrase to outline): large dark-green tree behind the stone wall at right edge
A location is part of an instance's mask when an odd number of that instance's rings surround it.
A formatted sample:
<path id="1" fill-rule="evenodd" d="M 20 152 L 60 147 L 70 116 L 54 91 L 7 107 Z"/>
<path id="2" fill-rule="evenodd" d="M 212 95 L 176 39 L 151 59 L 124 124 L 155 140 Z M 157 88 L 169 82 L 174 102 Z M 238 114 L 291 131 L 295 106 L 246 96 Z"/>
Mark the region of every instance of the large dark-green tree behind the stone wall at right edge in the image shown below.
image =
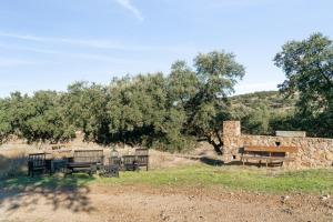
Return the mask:
<path id="1" fill-rule="evenodd" d="M 316 135 L 333 134 L 333 43 L 321 33 L 290 41 L 275 56 L 285 72 L 280 85 L 287 95 L 297 94 L 300 125 Z"/>

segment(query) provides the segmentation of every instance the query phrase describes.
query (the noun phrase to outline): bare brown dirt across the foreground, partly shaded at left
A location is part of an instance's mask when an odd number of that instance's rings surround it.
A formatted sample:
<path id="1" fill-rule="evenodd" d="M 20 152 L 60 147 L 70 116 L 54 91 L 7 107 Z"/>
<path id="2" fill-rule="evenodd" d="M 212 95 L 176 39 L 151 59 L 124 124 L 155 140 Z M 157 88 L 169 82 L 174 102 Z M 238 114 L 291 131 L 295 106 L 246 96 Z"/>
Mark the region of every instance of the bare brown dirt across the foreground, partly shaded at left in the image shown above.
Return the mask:
<path id="1" fill-rule="evenodd" d="M 221 189 L 89 186 L 0 191 L 1 222 L 42 221 L 333 221 L 333 200 Z"/>

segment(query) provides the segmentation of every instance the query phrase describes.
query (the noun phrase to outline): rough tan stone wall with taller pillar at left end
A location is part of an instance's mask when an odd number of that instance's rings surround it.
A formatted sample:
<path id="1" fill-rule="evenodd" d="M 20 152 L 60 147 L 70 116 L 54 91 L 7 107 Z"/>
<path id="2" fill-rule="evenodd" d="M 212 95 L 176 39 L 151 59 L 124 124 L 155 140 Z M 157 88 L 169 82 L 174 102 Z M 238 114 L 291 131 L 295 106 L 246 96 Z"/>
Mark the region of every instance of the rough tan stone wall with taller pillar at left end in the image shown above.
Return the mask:
<path id="1" fill-rule="evenodd" d="M 225 162 L 239 161 L 241 148 L 244 145 L 275 145 L 275 142 L 280 142 L 281 145 L 299 148 L 297 153 L 293 154 L 295 161 L 284 164 L 289 168 L 326 168 L 333 165 L 333 139 L 249 135 L 235 133 L 239 129 L 239 121 L 223 123 L 223 159 Z"/>

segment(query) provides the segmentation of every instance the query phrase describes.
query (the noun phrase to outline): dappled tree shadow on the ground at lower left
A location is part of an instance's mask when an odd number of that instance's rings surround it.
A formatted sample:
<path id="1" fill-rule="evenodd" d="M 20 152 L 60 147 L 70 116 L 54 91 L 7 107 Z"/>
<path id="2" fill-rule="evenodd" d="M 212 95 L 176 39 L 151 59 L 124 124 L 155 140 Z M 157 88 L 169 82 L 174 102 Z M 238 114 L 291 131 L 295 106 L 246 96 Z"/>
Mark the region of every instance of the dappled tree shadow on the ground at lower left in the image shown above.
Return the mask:
<path id="1" fill-rule="evenodd" d="M 88 196 L 88 183 L 92 180 L 88 174 L 64 178 L 62 173 L 36 178 L 21 174 L 0 179 L 0 211 L 34 211 L 38 205 L 51 206 L 53 211 L 60 208 L 72 212 L 94 211 Z"/>

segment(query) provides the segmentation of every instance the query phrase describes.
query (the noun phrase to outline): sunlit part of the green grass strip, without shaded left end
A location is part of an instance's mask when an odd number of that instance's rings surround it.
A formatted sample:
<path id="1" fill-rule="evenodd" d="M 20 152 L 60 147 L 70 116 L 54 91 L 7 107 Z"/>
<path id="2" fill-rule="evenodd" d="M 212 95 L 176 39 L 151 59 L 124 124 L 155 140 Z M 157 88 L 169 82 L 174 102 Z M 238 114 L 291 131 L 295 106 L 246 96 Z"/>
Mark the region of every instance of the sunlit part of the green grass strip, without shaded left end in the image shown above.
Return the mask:
<path id="1" fill-rule="evenodd" d="M 102 184 L 153 186 L 220 186 L 269 193 L 333 193 L 333 170 L 272 171 L 241 167 L 193 165 L 150 172 L 124 172 L 119 179 L 98 179 Z"/>

